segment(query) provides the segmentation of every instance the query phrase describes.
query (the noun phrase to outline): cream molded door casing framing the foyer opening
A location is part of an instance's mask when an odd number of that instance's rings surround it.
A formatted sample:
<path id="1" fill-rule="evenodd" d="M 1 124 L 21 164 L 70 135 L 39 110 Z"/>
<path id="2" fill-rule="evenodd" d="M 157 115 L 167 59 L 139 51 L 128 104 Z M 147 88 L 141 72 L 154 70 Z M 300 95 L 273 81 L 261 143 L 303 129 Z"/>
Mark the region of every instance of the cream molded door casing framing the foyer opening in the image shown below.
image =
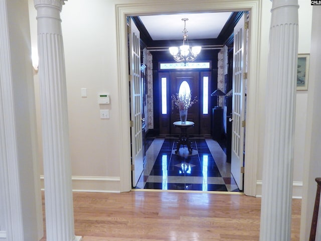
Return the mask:
<path id="1" fill-rule="evenodd" d="M 223 2 L 221 5 L 218 5 L 217 2 L 202 2 L 199 3 L 198 1 L 192 1 L 189 3 L 189 5 L 182 5 L 183 2 L 178 1 L 175 3 L 171 3 L 170 6 L 167 6 L 166 4 L 162 3 L 148 3 L 144 4 L 143 6 L 140 5 L 116 5 L 116 19 L 117 19 L 117 49 L 118 49 L 118 77 L 119 77 L 119 93 L 120 93 L 120 106 L 121 106 L 121 114 L 123 116 L 127 116 L 128 118 L 128 112 L 126 109 L 128 109 L 127 103 L 128 101 L 128 76 L 126 75 L 126 70 L 128 67 L 127 63 L 127 54 L 126 51 L 123 51 L 126 49 L 126 17 L 127 16 L 137 16 L 139 15 L 156 15 L 156 14 L 164 14 L 164 13 L 173 13 L 173 10 L 180 9 L 180 11 L 186 11 L 186 12 L 217 12 L 217 11 L 244 11 L 247 10 L 250 12 L 250 19 L 251 23 L 254 23 L 250 26 L 250 35 L 249 35 L 249 42 L 250 44 L 250 55 L 248 57 L 249 59 L 249 72 L 248 72 L 248 78 L 253 75 L 253 79 L 259 79 L 259 68 L 258 63 L 256 61 L 251 61 L 252 59 L 257 59 L 257 54 L 259 53 L 259 38 L 252 38 L 252 36 L 259 36 L 259 28 L 260 28 L 260 19 L 259 19 L 259 10 L 260 10 L 260 4 L 259 1 L 244 1 L 242 3 L 238 3 L 237 1 L 229 1 L 229 2 Z M 183 6 L 183 9 L 182 9 Z M 252 70 L 252 71 L 251 71 Z M 256 92 L 254 91 L 256 89 L 256 83 L 255 81 L 251 81 L 249 85 L 248 93 L 251 91 L 251 99 L 248 100 L 247 106 L 248 106 L 248 114 L 246 116 L 247 119 L 249 119 L 250 123 L 255 123 L 256 121 L 256 113 L 258 113 L 258 109 L 255 106 L 255 101 L 258 98 Z M 127 96 L 127 97 L 126 97 Z M 123 126 L 126 127 L 126 118 L 122 120 Z M 255 186 L 256 186 L 256 166 L 257 166 L 257 156 L 258 156 L 258 148 L 256 143 L 258 143 L 258 136 L 253 135 L 255 132 L 256 126 L 248 126 L 246 129 L 247 134 L 246 138 L 246 146 L 252 146 L 252 151 L 247 156 L 247 160 L 249 161 L 249 165 L 247 168 L 247 175 L 245 179 L 245 187 L 247 190 L 244 190 L 244 192 L 247 195 L 255 195 Z M 128 133 L 126 134 L 126 130 L 129 133 L 129 129 L 124 128 L 124 130 L 121 132 L 121 142 L 125 145 L 128 145 L 126 143 L 130 143 L 130 138 Z M 246 147 L 245 147 L 246 148 Z M 121 153 L 120 155 L 120 165 L 121 165 L 121 173 L 120 173 L 120 190 L 121 191 L 129 191 L 131 187 L 131 182 L 129 178 L 130 173 L 130 164 L 126 164 L 130 160 L 130 153 L 128 151 Z M 123 161 L 122 161 L 123 160 Z M 253 164 L 253 165 L 252 165 Z M 248 182 L 248 185 L 246 184 Z"/>

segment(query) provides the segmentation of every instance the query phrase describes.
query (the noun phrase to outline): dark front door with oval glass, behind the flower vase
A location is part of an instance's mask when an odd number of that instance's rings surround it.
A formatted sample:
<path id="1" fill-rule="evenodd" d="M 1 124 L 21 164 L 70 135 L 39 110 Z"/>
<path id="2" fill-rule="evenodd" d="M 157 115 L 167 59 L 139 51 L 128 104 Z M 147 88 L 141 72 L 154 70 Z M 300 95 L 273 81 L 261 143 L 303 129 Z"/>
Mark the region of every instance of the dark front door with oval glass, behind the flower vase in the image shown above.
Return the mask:
<path id="1" fill-rule="evenodd" d="M 186 81 L 191 89 L 191 100 L 195 97 L 199 100 L 200 97 L 200 83 L 199 83 L 199 72 L 172 72 L 170 83 L 170 94 L 176 95 L 179 93 L 179 89 L 183 81 Z M 188 130 L 189 134 L 200 134 L 200 101 L 193 104 L 188 109 L 187 121 L 195 123 L 194 128 Z M 175 107 L 174 101 L 171 99 L 171 134 L 179 134 L 180 130 L 175 128 L 173 123 L 180 121 L 179 109 Z"/>

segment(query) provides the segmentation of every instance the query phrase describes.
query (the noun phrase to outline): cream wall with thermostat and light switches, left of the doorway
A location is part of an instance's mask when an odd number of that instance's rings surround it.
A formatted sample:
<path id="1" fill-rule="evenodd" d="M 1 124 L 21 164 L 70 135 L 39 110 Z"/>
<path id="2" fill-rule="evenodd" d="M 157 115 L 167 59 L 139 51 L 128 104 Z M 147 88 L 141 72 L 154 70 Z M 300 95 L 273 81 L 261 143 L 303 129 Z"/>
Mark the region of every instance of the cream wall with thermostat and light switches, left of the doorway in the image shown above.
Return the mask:
<path id="1" fill-rule="evenodd" d="M 29 1 L 33 5 L 33 1 Z M 30 10 L 32 26 L 36 11 Z M 71 1 L 63 6 L 70 151 L 73 189 L 119 191 L 118 89 L 115 10 L 113 1 Z M 36 28 L 31 27 L 32 35 Z M 34 30 L 34 31 L 33 31 Z M 36 38 L 32 38 L 37 46 Z M 35 76 L 39 100 L 38 76 Z M 87 88 L 87 97 L 81 97 Z M 97 95 L 110 94 L 110 104 L 99 105 Z M 39 102 L 38 102 L 39 104 Z M 39 105 L 38 105 L 39 108 Z M 100 119 L 108 108 L 109 119 Z M 40 124 L 40 112 L 37 113 Z M 38 128 L 41 138 L 41 129 Z M 41 152 L 40 152 L 41 154 Z M 43 167 L 42 161 L 40 162 Z"/>

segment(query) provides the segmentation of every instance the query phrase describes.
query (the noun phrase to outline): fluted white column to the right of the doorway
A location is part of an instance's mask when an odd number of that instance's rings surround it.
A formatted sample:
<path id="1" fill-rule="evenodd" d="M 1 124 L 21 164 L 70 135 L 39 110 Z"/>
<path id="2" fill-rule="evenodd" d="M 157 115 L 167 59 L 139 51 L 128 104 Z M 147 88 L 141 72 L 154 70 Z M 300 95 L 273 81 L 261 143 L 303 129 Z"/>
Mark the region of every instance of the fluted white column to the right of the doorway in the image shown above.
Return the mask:
<path id="1" fill-rule="evenodd" d="M 297 71 L 297 0 L 273 0 L 262 179 L 261 241 L 289 241 Z"/>

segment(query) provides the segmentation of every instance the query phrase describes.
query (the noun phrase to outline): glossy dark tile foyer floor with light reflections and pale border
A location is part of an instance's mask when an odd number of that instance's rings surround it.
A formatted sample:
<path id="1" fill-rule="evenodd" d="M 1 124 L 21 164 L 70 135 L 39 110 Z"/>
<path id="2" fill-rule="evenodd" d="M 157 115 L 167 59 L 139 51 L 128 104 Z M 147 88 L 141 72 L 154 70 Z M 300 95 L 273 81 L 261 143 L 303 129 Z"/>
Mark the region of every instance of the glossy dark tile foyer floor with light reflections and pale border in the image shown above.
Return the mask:
<path id="1" fill-rule="evenodd" d="M 216 141 L 192 138 L 192 154 L 187 147 L 181 147 L 175 154 L 176 141 L 175 138 L 153 140 L 136 188 L 239 192 L 230 163 Z"/>

